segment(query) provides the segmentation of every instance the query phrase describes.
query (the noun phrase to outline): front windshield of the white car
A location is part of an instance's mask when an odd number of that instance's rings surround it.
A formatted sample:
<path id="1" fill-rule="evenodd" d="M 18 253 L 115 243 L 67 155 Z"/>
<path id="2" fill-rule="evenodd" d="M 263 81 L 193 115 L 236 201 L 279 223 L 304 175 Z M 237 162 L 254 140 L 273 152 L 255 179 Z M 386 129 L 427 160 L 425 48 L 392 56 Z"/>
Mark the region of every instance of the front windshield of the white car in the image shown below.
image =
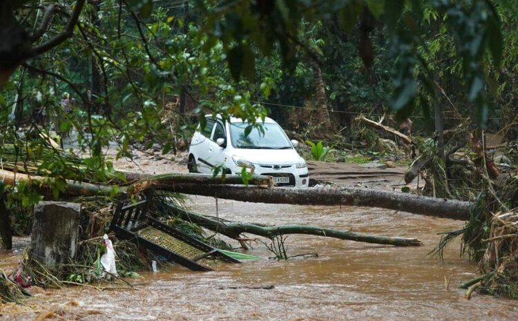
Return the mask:
<path id="1" fill-rule="evenodd" d="M 278 124 L 262 124 L 264 133 L 259 128 L 252 128 L 248 135 L 244 135 L 244 130 L 249 123 L 231 123 L 230 138 L 232 146 L 235 148 L 250 149 L 291 149 L 289 142 L 282 128 Z"/>

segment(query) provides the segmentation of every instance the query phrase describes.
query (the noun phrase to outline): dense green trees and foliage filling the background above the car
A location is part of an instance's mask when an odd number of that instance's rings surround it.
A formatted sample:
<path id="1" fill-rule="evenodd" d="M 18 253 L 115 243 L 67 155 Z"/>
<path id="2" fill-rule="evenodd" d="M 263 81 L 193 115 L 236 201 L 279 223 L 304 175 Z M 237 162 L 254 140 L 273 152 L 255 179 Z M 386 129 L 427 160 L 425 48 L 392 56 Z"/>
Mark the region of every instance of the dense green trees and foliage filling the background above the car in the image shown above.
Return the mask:
<path id="1" fill-rule="evenodd" d="M 2 1 L 0 156 L 57 197 L 66 179 L 124 180 L 104 158 L 113 142 L 119 157 L 176 151 L 207 113 L 253 126 L 269 115 L 300 140 L 368 147 L 379 141 L 353 119 L 392 114 L 390 126 L 410 118 L 428 137 L 414 147 L 432 159 L 428 193 L 474 200 L 492 191 L 490 173 L 447 171 L 445 157 L 473 142 L 485 165 L 483 130 L 517 137 L 517 11 L 508 0 Z M 79 166 L 42 148 L 71 132 Z M 20 206 L 43 197 L 8 187 Z"/>

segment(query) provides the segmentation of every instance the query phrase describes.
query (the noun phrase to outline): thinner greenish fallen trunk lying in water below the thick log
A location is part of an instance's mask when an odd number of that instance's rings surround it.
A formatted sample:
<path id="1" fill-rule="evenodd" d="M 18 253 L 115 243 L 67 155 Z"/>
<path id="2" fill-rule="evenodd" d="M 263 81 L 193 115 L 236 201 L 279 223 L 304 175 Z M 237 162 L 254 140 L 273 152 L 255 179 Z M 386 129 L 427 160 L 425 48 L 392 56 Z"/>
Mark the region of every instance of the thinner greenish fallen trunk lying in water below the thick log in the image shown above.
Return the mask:
<path id="1" fill-rule="evenodd" d="M 350 240 L 356 242 L 366 242 L 373 244 L 388 244 L 394 246 L 421 246 L 420 240 L 407 237 L 390 237 L 385 235 L 372 235 L 365 233 L 358 233 L 352 231 L 338 231 L 332 228 L 323 228 L 319 226 L 309 225 L 280 225 L 280 226 L 264 226 L 261 224 L 242 223 L 242 222 L 225 222 L 215 218 L 186 211 L 177 206 L 164 203 L 155 203 L 158 208 L 163 208 L 166 211 L 178 215 L 182 220 L 192 222 L 194 224 L 209 228 L 212 231 L 218 232 L 227 237 L 239 240 L 239 235 L 242 233 L 250 233 L 262 237 L 272 238 L 276 235 L 287 234 L 307 234 L 318 235 L 325 237 L 334 237 L 340 240 Z"/>

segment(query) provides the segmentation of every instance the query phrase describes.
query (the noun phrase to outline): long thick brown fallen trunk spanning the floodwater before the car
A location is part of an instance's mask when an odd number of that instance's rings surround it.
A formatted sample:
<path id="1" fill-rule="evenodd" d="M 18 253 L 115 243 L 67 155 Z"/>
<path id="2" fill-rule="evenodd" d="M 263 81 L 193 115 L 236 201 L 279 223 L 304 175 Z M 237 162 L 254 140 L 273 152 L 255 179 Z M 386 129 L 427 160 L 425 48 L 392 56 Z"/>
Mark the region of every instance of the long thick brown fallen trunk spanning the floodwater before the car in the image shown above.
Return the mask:
<path id="1" fill-rule="evenodd" d="M 204 195 L 242 202 L 298 205 L 349 205 L 387 208 L 414 214 L 468 220 L 471 202 L 439 199 L 369 188 L 256 188 L 182 184 L 165 191 Z"/>

